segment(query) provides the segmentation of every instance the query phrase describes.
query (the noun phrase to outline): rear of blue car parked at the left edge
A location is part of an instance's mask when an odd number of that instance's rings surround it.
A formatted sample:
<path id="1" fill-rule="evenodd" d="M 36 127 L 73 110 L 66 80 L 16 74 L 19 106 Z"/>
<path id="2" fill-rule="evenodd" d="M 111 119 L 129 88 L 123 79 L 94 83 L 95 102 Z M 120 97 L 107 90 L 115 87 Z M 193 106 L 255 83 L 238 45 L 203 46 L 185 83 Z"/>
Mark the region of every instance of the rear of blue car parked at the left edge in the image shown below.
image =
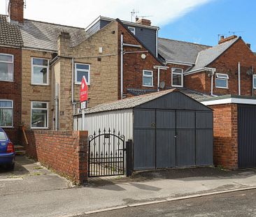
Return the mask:
<path id="1" fill-rule="evenodd" d="M 6 132 L 0 128 L 0 166 L 4 165 L 8 169 L 14 169 L 15 149 L 12 142 L 10 142 Z"/>

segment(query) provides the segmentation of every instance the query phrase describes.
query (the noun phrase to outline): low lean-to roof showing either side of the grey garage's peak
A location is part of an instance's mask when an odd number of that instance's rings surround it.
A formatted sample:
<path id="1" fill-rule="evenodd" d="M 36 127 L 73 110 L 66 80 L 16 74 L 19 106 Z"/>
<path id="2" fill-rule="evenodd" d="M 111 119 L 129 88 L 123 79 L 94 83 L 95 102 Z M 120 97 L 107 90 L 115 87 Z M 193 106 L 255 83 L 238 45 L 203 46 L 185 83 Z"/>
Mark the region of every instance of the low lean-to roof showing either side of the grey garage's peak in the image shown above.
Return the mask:
<path id="1" fill-rule="evenodd" d="M 213 98 L 213 96 L 206 94 L 206 93 L 201 93 L 199 91 L 194 91 L 192 89 L 187 89 L 187 88 L 177 88 L 180 92 L 184 93 L 185 95 L 189 96 L 190 98 L 193 98 L 194 100 L 202 100 L 205 98 Z M 154 93 L 157 92 L 156 89 L 127 89 L 128 93 L 131 93 L 134 96 L 139 96 L 143 94 L 148 94 L 148 93 Z"/>

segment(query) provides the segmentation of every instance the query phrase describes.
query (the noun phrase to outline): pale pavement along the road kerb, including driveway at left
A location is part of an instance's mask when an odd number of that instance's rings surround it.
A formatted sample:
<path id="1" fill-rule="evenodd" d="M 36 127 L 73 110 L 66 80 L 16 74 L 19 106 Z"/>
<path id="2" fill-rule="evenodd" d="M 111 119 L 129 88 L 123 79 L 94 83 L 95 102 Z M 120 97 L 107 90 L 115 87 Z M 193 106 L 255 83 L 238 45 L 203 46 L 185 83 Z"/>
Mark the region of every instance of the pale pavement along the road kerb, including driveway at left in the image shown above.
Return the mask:
<path id="1" fill-rule="evenodd" d="M 13 181 L 10 173 L 0 172 L 2 217 L 75 216 L 102 209 L 137 207 L 256 188 L 255 169 L 229 171 L 215 167 L 138 172 L 129 178 L 90 179 L 87 186 L 72 188 L 66 179 L 46 168 L 38 169 L 37 163 L 27 160 L 17 158 L 20 170 L 13 172 Z M 36 175 L 37 172 L 41 174 Z M 11 208 L 6 209 L 10 204 Z"/>

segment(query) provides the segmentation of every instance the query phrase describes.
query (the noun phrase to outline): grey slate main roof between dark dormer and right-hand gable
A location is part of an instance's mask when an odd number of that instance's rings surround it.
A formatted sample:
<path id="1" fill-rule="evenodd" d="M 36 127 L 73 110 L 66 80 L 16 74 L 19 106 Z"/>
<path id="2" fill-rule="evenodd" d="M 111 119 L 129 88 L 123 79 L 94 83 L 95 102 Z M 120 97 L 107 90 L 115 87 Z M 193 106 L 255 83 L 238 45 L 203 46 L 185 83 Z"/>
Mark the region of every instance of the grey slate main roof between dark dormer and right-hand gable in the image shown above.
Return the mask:
<path id="1" fill-rule="evenodd" d="M 166 61 L 195 63 L 197 54 L 209 47 L 211 46 L 158 38 L 158 53 L 164 57 Z"/>

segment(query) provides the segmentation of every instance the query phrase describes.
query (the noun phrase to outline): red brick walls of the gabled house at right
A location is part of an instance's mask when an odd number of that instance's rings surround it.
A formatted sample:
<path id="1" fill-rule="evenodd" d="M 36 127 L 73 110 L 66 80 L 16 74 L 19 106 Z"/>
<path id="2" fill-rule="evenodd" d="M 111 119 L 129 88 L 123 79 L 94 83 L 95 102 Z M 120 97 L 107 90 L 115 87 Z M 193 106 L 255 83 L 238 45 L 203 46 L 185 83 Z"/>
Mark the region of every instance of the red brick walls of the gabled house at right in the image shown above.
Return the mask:
<path id="1" fill-rule="evenodd" d="M 256 68 L 256 57 L 242 39 L 239 39 L 232 47 L 213 61 L 208 67 L 216 68 L 216 73 L 229 75 L 229 88 L 220 89 L 215 87 L 215 75 L 213 77 L 213 94 L 238 95 L 238 63 L 241 63 L 241 95 L 252 95 L 252 76 L 246 75 L 251 66 Z M 211 77 L 205 72 L 185 76 L 185 87 L 211 93 Z M 255 72 L 256 74 L 256 72 Z M 254 91 L 256 93 L 256 91 Z"/>

